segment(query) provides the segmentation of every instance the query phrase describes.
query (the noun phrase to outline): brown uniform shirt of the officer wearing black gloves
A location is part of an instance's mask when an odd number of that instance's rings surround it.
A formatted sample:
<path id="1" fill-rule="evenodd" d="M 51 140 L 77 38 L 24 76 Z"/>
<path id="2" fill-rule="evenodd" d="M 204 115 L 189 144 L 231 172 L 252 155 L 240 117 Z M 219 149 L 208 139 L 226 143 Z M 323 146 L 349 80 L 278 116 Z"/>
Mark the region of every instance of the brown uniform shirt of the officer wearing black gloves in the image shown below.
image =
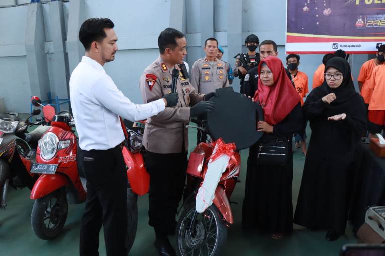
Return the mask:
<path id="1" fill-rule="evenodd" d="M 175 66 L 177 67 L 177 66 Z M 159 56 L 149 65 L 140 77 L 139 86 L 144 103 L 148 103 L 171 92 L 171 73 Z M 188 149 L 188 130 L 190 106 L 203 100 L 181 72 L 176 84 L 179 102 L 175 107 L 166 107 L 164 111 L 148 118 L 143 135 L 143 145 L 153 153 L 181 153 Z"/>

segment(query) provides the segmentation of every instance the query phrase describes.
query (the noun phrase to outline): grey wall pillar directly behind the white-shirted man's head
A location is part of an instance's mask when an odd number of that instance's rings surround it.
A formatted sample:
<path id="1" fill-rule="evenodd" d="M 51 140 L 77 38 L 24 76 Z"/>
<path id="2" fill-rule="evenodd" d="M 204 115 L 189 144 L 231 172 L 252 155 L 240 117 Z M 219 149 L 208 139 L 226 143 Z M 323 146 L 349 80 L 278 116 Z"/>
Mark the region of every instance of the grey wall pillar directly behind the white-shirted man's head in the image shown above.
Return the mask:
<path id="1" fill-rule="evenodd" d="M 68 32 L 67 32 L 67 53 L 69 74 L 79 64 L 84 56 L 85 50 L 79 41 L 79 29 L 82 23 L 86 20 L 84 0 L 71 0 L 69 17 L 68 17 Z"/>

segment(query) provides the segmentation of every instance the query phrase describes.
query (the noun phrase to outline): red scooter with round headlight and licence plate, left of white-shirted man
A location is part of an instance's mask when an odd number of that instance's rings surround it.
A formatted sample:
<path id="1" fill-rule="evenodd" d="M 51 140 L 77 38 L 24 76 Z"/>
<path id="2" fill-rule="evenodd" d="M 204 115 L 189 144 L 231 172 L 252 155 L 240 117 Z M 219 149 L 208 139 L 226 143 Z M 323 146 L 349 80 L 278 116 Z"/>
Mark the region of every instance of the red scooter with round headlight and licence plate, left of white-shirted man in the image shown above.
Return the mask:
<path id="1" fill-rule="evenodd" d="M 41 105 L 40 99 L 35 97 L 33 104 Z M 86 192 L 76 163 L 77 138 L 72 130 L 71 114 L 62 111 L 45 118 L 50 122 L 50 128 L 38 142 L 36 163 L 32 165 L 31 173 L 38 173 L 40 177 L 30 198 L 35 200 L 32 229 L 39 238 L 47 240 L 61 232 L 67 218 L 68 202 L 84 202 Z"/>

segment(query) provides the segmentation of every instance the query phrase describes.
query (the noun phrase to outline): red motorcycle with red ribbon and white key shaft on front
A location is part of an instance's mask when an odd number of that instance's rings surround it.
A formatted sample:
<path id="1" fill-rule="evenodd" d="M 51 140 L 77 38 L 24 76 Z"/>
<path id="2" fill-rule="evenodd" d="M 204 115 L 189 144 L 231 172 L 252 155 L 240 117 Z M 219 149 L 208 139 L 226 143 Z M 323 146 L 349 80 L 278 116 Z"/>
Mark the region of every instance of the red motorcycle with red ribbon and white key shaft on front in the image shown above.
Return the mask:
<path id="1" fill-rule="evenodd" d="M 205 129 L 205 122 L 191 120 Z M 219 163 L 219 164 L 218 164 Z M 222 139 L 200 143 L 190 153 L 187 167 L 189 195 L 181 208 L 176 228 L 179 255 L 221 255 L 227 227 L 233 224 L 230 196 L 241 169 L 235 144 Z"/>

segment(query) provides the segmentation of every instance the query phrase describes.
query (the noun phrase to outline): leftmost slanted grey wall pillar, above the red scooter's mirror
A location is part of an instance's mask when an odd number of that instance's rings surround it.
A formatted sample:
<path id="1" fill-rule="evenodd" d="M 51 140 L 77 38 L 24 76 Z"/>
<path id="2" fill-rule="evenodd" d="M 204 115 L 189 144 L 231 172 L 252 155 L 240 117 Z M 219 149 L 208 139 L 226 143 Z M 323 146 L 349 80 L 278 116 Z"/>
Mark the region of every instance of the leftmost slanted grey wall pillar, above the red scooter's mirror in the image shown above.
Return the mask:
<path id="1" fill-rule="evenodd" d="M 47 99 L 50 91 L 47 58 L 45 54 L 46 35 L 44 31 L 41 3 L 31 3 L 27 10 L 26 55 L 31 94 Z"/>

